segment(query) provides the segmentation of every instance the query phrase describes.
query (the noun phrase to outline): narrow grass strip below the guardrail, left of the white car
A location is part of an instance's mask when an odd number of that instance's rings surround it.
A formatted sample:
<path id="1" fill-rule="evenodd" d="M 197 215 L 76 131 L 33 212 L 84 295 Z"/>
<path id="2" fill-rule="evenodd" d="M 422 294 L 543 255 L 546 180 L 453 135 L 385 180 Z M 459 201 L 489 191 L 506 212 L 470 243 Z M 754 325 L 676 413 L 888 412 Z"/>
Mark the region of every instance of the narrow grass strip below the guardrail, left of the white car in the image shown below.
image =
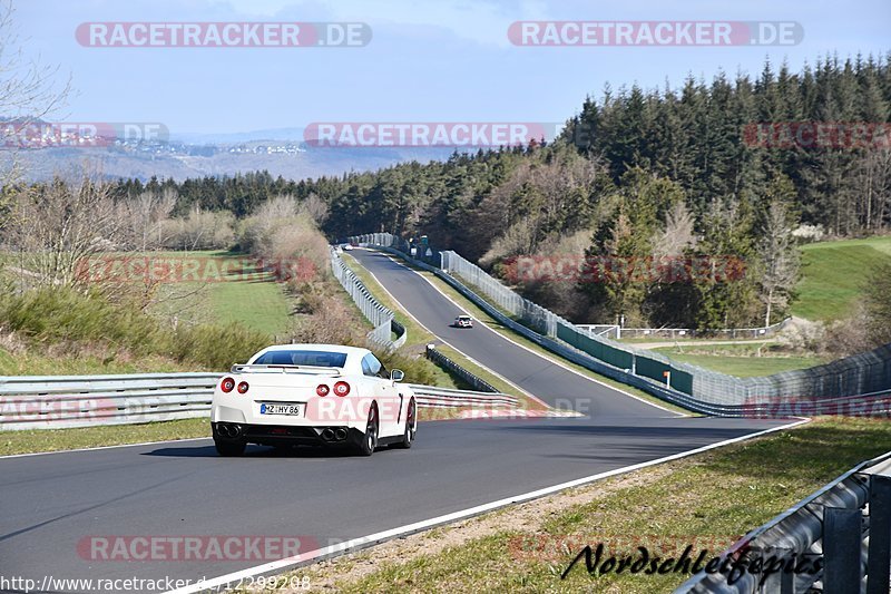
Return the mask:
<path id="1" fill-rule="evenodd" d="M 0 456 L 195 437 L 210 437 L 209 419 L 182 419 L 145 425 L 114 425 L 77 429 L 0 431 Z"/>

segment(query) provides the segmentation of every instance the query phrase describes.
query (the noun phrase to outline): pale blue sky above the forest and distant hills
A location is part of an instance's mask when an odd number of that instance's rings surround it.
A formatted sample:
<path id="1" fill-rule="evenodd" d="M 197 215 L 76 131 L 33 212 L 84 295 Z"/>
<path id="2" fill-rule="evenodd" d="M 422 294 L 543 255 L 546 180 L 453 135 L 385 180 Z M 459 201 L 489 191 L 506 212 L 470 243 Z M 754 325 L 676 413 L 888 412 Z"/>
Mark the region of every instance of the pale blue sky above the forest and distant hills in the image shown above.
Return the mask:
<path id="1" fill-rule="evenodd" d="M 27 0 L 22 48 L 70 74 L 70 121 L 159 121 L 174 133 L 226 133 L 312 121 L 561 121 L 586 95 L 678 86 L 718 69 L 793 69 L 817 56 L 891 49 L 888 0 L 424 1 Z M 786 47 L 516 47 L 518 20 L 797 21 Z M 88 48 L 87 21 L 362 21 L 364 48 Z"/>

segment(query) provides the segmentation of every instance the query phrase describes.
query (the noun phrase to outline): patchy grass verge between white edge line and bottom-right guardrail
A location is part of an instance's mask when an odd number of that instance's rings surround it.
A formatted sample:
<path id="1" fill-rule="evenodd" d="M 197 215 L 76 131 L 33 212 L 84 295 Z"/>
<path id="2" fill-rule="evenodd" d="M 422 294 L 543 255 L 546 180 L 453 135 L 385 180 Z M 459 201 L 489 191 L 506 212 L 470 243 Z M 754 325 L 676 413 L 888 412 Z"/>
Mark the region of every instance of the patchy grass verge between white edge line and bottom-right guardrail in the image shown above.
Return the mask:
<path id="1" fill-rule="evenodd" d="M 595 548 L 603 543 L 605 557 L 633 554 L 638 545 L 663 559 L 676 557 L 687 544 L 694 544 L 694 557 L 703 548 L 709 556 L 717 554 L 860 461 L 889 449 L 891 423 L 884 420 L 817 419 L 574 489 L 569 495 L 584 496 L 582 503 L 558 504 L 537 520 L 515 520 L 511 528 L 495 528 L 456 546 L 435 547 L 450 529 L 440 528 L 427 541 L 435 552 L 412 549 L 408 561 L 378 561 L 359 576 L 342 577 L 350 567 L 374 564 L 373 548 L 295 575 L 307 575 L 314 584 L 332 580 L 334 590 L 344 593 L 670 592 L 688 576 L 591 575 L 584 561 L 566 580 L 560 574 L 586 544 Z M 496 512 L 499 524 L 510 513 Z"/>

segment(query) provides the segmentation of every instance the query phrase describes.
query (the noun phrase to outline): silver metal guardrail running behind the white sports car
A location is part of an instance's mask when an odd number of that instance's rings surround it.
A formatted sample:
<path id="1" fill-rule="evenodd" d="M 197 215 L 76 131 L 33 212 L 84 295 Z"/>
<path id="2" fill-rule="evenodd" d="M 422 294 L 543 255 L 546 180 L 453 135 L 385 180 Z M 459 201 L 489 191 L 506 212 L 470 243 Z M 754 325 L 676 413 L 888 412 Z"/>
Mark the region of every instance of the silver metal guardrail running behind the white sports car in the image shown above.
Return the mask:
<path id="1" fill-rule="evenodd" d="M 209 417 L 223 373 L 0 377 L 0 431 Z M 502 393 L 409 384 L 421 407 L 517 407 Z"/>

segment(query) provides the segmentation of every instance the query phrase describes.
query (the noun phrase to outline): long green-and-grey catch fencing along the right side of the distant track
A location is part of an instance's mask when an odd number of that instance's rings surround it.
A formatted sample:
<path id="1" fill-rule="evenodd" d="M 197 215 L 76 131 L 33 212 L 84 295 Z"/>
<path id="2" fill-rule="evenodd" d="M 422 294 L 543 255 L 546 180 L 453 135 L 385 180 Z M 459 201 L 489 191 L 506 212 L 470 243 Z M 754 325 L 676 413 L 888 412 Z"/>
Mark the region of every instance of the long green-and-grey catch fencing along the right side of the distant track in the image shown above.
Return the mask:
<path id="1" fill-rule="evenodd" d="M 745 416 L 753 409 L 768 410 L 777 400 L 791 397 L 822 400 L 878 395 L 884 398 L 881 392 L 891 390 L 891 344 L 809 369 L 737 378 L 591 335 L 523 299 L 454 252 L 433 252 L 428 262 L 419 263 L 405 252 L 408 244 L 389 233 L 358 235 L 349 241 L 382 249 L 425 266 L 499 322 L 544 348 L 695 411 Z M 430 262 L 439 262 L 439 267 Z"/>

